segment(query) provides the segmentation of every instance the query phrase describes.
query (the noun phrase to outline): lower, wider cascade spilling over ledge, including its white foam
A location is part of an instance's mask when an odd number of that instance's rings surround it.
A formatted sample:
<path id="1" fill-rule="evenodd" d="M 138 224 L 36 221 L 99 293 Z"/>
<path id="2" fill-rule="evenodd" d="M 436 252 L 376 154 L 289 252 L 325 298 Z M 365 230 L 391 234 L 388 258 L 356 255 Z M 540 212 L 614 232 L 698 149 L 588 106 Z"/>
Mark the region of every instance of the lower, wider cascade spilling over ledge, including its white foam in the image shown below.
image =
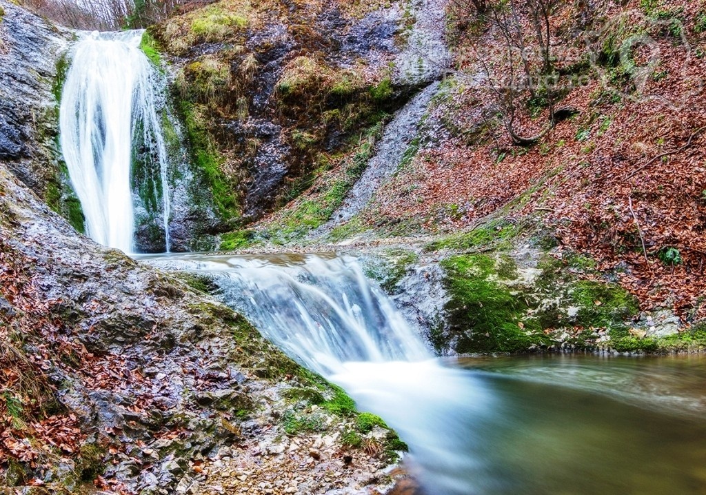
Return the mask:
<path id="1" fill-rule="evenodd" d="M 469 418 L 491 417 L 477 377 L 443 366 L 351 256 L 184 254 L 147 259 L 165 270 L 209 274 L 222 300 L 271 342 L 343 386 L 410 448 L 419 479 L 438 495 L 482 493 L 484 470 Z M 469 448 L 474 446 L 474 448 Z"/>

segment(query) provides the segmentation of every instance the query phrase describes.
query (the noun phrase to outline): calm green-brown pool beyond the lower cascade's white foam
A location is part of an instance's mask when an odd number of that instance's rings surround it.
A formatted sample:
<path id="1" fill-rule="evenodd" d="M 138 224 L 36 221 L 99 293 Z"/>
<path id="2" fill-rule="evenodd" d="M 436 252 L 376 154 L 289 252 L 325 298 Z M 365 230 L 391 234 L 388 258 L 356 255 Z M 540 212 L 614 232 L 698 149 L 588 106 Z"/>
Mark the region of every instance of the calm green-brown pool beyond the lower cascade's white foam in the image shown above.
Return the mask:
<path id="1" fill-rule="evenodd" d="M 706 493 L 703 357 L 510 357 L 445 366 L 465 381 L 457 393 L 477 402 L 436 408 L 450 431 L 436 442 L 436 459 L 427 452 L 419 459 L 429 495 Z"/>

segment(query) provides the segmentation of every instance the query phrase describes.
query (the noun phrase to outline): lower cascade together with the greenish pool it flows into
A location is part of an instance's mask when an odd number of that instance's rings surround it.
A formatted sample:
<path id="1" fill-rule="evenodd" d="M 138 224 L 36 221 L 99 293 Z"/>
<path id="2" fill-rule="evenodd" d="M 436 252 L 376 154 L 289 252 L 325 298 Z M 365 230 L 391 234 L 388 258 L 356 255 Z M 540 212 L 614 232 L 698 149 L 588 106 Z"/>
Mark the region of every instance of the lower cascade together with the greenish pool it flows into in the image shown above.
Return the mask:
<path id="1" fill-rule="evenodd" d="M 706 493 L 706 359 L 435 359 L 351 257 L 147 258 L 222 298 L 409 443 L 426 495 Z"/>

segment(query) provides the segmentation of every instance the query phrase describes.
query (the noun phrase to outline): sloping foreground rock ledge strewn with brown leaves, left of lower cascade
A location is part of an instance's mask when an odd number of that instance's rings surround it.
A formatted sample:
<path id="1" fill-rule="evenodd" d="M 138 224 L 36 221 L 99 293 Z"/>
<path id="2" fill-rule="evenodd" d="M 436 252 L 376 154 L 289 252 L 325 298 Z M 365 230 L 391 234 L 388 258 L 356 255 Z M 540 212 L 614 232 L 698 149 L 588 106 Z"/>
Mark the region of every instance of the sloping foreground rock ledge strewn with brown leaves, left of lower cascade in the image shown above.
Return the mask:
<path id="1" fill-rule="evenodd" d="M 378 494 L 400 477 L 381 420 L 2 165 L 0 362 L 1 493 Z"/>

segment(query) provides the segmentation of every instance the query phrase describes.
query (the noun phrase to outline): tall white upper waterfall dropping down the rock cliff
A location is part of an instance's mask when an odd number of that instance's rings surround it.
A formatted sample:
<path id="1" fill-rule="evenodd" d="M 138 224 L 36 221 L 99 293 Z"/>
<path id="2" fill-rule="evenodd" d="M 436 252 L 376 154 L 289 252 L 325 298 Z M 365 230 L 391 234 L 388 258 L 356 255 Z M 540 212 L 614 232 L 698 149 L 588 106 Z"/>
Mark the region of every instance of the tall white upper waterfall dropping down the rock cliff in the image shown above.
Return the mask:
<path id="1" fill-rule="evenodd" d="M 166 251 L 169 251 L 167 151 L 156 107 L 155 68 L 140 50 L 143 31 L 93 32 L 76 45 L 61 97 L 61 151 L 92 239 L 133 252 L 131 167 L 145 149 L 159 167 Z"/>

